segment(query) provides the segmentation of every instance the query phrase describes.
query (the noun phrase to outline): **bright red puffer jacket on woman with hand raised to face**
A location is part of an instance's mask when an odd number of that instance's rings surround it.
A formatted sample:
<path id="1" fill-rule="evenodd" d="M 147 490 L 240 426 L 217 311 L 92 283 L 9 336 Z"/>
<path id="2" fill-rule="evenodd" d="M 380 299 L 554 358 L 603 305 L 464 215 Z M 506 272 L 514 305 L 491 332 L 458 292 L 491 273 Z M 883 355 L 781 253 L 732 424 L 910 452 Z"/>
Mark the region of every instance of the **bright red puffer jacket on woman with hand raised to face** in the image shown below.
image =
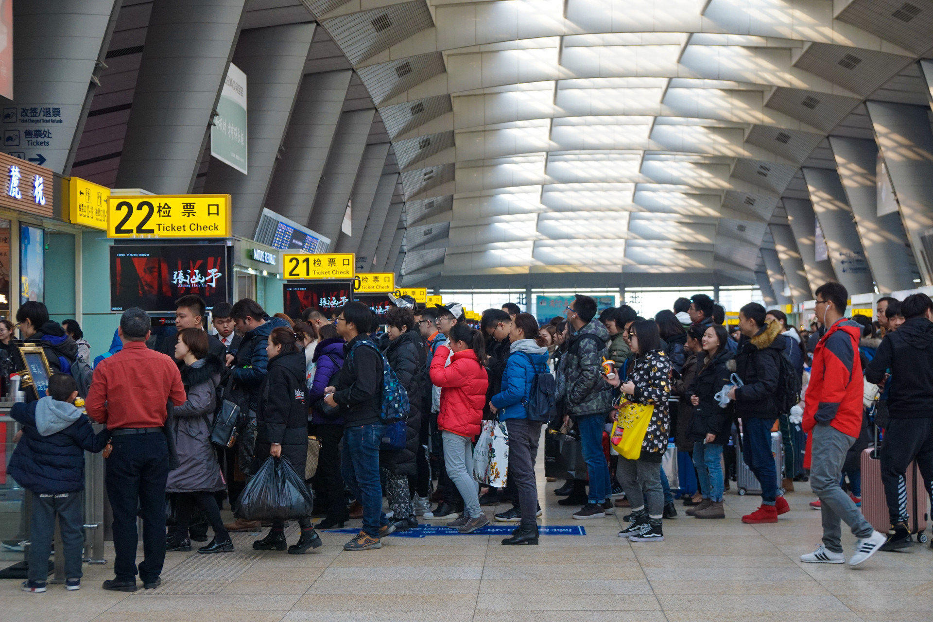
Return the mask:
<path id="1" fill-rule="evenodd" d="M 431 382 L 440 387 L 438 428 L 472 438 L 480 434 L 489 377 L 476 352 L 453 352 L 451 364 L 445 367 L 449 353 L 447 346 L 440 346 L 431 360 Z"/>

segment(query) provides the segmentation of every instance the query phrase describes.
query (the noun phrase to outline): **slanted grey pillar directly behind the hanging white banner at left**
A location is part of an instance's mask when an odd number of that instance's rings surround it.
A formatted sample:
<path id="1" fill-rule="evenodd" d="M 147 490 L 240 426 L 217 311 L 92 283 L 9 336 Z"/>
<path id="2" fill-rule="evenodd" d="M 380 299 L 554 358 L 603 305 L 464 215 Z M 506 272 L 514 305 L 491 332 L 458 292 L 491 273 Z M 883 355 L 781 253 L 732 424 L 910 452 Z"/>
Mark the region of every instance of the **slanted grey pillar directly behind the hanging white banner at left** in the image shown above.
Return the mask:
<path id="1" fill-rule="evenodd" d="M 314 35 L 313 23 L 244 31 L 233 63 L 246 74 L 248 174 L 211 159 L 205 193 L 233 197 L 233 233 L 252 238 Z"/>

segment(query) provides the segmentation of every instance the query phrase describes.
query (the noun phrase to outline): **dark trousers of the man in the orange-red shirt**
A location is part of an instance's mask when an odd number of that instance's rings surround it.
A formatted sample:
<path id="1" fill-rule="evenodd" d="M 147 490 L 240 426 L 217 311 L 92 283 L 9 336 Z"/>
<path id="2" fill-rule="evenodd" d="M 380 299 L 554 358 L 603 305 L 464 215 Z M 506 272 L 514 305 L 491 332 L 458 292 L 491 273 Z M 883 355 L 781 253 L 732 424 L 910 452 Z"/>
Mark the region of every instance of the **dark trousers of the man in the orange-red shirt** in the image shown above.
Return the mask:
<path id="1" fill-rule="evenodd" d="M 165 562 L 165 481 L 169 454 L 165 435 L 113 437 L 106 459 L 106 489 L 114 514 L 114 574 L 118 581 L 136 578 L 136 514 L 143 518 L 143 561 L 139 577 L 146 583 L 159 578 Z"/>

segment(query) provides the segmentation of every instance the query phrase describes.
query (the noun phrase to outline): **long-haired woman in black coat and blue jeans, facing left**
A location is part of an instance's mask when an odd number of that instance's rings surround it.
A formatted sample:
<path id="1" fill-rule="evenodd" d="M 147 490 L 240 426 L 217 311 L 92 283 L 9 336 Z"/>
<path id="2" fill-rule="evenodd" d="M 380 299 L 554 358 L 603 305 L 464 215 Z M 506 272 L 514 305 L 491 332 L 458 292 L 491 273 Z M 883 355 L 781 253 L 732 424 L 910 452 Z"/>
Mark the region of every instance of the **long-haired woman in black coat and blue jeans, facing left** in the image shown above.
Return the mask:
<path id="1" fill-rule="evenodd" d="M 732 402 L 719 406 L 716 394 L 729 384 L 726 364 L 733 357 L 726 347 L 729 333 L 721 325 L 710 325 L 703 333 L 703 352 L 699 367 L 687 393 L 693 405 L 689 437 L 693 440 L 693 465 L 697 469 L 703 500 L 687 510 L 696 518 L 726 518 L 722 508 L 725 478 L 722 473 L 722 448 L 729 442 L 732 426 Z"/>

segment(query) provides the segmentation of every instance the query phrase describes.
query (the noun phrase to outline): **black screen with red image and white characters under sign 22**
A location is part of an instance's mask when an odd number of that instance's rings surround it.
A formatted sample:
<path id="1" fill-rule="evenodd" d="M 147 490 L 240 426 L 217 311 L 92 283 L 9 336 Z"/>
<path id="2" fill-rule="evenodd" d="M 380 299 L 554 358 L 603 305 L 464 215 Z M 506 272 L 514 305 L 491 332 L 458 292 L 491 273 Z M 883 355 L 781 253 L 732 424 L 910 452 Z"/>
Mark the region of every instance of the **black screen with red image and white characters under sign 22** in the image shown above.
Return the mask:
<path id="1" fill-rule="evenodd" d="M 110 311 L 174 311 L 188 294 L 208 309 L 228 299 L 227 247 L 216 244 L 110 247 Z"/>

